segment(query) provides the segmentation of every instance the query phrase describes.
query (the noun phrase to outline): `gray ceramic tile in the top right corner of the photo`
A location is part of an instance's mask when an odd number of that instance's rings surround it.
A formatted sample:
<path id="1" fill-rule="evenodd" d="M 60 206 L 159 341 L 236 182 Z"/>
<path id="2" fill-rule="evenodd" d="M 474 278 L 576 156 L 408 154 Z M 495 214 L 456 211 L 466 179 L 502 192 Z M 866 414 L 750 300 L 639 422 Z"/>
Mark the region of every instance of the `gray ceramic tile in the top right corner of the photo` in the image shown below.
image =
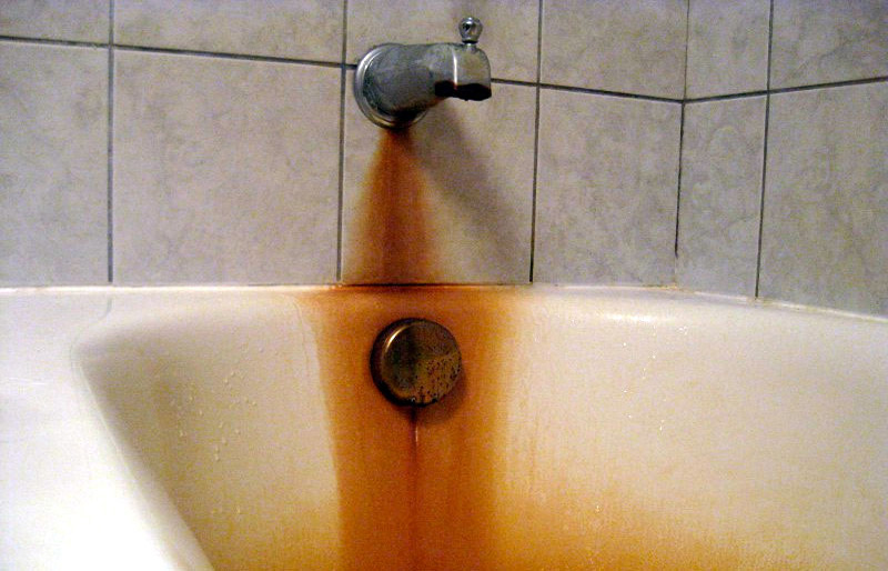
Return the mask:
<path id="1" fill-rule="evenodd" d="M 774 0 L 771 88 L 888 76 L 886 0 Z"/>

